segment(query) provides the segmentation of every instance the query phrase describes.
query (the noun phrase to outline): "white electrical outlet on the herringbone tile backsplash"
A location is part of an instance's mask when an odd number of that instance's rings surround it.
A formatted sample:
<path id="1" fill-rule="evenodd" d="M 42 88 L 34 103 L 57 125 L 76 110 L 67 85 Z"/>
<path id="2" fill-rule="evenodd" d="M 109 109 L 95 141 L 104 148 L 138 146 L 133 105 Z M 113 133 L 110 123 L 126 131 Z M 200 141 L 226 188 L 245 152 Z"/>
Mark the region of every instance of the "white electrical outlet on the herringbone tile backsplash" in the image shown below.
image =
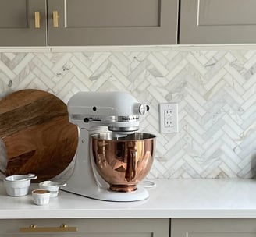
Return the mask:
<path id="1" fill-rule="evenodd" d="M 159 104 L 160 133 L 178 133 L 178 104 Z"/>

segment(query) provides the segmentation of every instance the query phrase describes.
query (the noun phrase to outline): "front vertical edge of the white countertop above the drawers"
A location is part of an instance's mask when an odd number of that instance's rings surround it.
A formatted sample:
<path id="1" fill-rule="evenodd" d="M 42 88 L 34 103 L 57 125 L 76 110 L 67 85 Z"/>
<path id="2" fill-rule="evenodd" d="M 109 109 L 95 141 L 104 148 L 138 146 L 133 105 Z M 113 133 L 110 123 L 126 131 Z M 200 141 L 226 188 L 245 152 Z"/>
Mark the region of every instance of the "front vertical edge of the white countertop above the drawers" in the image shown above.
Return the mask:
<path id="1" fill-rule="evenodd" d="M 16 210 L 8 210 L 0 214 L 0 219 L 57 219 L 57 218 L 256 218 L 255 210 L 144 210 L 140 214 L 131 212 L 130 214 L 122 214 L 121 211 L 111 211 L 111 214 L 102 214 L 102 211 L 89 211 L 84 214 L 83 211 L 46 211 L 38 212 L 38 210 L 25 210 L 22 213 Z"/>

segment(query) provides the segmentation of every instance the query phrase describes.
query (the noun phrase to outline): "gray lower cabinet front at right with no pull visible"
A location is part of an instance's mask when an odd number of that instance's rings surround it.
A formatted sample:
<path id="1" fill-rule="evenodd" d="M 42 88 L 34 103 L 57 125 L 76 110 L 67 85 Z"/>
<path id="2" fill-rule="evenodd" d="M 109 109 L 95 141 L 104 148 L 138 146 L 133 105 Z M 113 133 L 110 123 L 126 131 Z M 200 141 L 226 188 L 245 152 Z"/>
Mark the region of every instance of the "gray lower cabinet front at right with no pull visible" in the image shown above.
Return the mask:
<path id="1" fill-rule="evenodd" d="M 172 219 L 172 237 L 254 237 L 255 219 Z"/>

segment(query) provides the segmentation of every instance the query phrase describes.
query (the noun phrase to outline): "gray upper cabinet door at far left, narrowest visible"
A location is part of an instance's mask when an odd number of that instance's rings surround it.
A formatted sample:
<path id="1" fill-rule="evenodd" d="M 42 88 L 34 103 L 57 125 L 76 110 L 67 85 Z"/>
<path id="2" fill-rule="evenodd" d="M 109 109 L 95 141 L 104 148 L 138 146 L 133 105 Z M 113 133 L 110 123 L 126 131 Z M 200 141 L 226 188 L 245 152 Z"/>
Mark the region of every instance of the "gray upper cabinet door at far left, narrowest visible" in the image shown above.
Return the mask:
<path id="1" fill-rule="evenodd" d="M 0 46 L 45 46 L 45 10 L 45 0 L 1 0 Z M 35 12 L 39 12 L 39 28 L 35 27 Z"/>

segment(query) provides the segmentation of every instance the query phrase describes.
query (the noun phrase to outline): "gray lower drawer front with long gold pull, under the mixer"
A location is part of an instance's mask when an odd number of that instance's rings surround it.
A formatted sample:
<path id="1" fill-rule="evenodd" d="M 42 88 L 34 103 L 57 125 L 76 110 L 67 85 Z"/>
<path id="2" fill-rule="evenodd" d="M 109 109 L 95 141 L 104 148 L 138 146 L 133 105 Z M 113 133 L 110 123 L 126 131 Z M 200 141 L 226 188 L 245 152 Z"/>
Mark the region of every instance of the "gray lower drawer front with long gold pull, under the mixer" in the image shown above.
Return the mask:
<path id="1" fill-rule="evenodd" d="M 169 237 L 169 219 L 0 220 L 0 236 Z"/>

